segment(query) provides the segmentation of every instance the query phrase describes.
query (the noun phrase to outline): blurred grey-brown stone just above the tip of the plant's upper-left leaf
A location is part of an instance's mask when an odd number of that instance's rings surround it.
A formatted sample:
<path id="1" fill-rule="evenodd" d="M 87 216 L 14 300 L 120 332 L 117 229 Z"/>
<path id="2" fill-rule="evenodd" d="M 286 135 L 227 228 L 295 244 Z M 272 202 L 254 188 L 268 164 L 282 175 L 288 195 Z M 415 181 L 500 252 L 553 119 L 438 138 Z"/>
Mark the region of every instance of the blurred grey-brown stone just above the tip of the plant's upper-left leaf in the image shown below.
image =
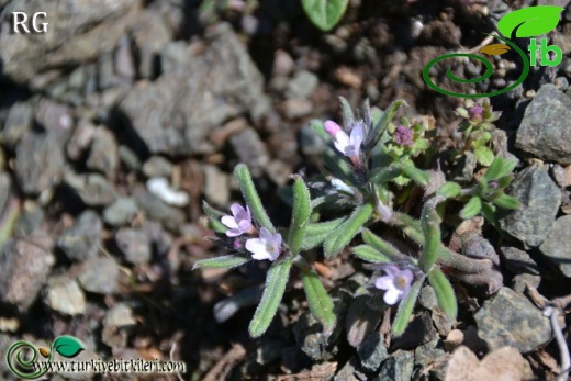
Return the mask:
<path id="1" fill-rule="evenodd" d="M 232 135 L 229 143 L 238 159 L 248 166 L 254 176 L 261 175 L 270 158 L 266 145 L 261 142 L 258 133 L 248 127 Z"/>

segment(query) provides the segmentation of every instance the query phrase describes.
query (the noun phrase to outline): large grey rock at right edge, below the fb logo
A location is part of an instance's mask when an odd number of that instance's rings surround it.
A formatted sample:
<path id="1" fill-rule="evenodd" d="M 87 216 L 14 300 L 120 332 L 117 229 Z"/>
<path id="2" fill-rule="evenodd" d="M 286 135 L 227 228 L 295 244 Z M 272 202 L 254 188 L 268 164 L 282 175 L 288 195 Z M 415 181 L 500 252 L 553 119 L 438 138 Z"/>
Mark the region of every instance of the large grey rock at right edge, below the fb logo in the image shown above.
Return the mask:
<path id="1" fill-rule="evenodd" d="M 534 156 L 571 164 L 571 98 L 544 85 L 527 107 L 515 146 Z"/>

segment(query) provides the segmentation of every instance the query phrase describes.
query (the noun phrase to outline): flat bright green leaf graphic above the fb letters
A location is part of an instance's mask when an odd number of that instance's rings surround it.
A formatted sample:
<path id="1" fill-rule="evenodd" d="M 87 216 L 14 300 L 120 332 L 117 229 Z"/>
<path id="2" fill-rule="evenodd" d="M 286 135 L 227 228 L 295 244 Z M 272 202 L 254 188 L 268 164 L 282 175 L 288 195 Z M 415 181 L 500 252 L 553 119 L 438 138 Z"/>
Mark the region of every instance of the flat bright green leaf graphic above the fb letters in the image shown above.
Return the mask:
<path id="1" fill-rule="evenodd" d="M 500 19 L 497 30 L 508 38 L 537 36 L 555 30 L 562 11 L 564 8 L 555 5 L 519 9 Z"/>

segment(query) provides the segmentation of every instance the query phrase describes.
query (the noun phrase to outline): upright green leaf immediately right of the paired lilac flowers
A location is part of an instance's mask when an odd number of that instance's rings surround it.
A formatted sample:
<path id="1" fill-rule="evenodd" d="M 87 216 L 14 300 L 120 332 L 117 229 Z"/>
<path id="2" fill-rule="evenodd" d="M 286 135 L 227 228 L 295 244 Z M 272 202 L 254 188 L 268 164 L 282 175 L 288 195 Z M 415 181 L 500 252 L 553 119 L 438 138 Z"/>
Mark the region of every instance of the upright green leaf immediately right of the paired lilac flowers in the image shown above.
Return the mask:
<path id="1" fill-rule="evenodd" d="M 295 177 L 293 182 L 293 212 L 291 214 L 290 233 L 288 237 L 288 245 L 291 253 L 298 255 L 302 245 L 311 215 L 311 198 L 310 190 L 300 176 Z"/>

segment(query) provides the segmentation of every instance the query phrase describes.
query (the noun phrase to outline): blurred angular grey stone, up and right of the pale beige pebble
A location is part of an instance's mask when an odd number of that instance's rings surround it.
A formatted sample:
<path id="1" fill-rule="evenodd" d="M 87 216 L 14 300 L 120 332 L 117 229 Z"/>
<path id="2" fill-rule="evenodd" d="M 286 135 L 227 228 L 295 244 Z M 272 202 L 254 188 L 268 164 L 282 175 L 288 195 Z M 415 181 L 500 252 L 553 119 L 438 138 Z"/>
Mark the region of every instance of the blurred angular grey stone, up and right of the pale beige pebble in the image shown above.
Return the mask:
<path id="1" fill-rule="evenodd" d="M 101 245 L 103 224 L 93 211 L 85 211 L 77 218 L 75 225 L 65 231 L 57 239 L 57 246 L 70 260 L 83 261 L 93 258 Z"/>

